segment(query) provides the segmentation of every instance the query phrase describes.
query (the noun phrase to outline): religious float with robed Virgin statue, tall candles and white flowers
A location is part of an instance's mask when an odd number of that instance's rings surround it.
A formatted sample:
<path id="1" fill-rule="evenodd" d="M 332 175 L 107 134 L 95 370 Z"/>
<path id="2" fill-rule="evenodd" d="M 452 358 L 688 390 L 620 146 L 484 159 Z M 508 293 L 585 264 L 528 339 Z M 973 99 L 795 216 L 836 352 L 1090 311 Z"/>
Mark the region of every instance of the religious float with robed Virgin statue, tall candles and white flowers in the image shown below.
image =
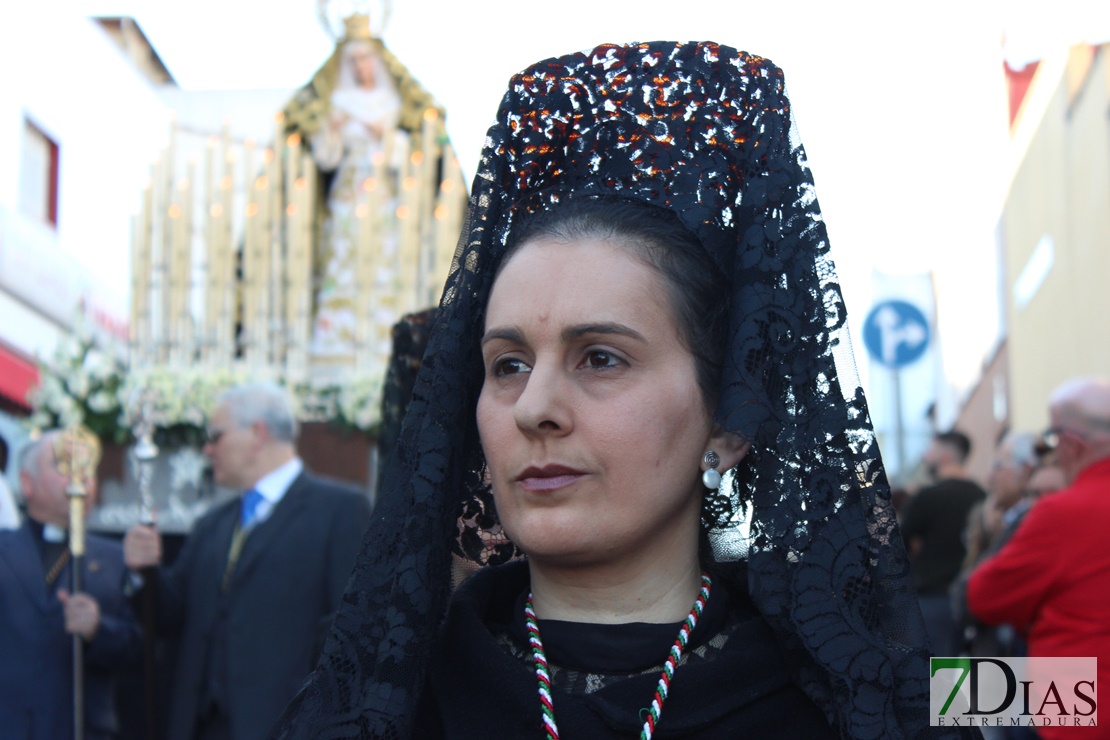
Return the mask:
<path id="1" fill-rule="evenodd" d="M 218 395 L 248 379 L 293 395 L 307 465 L 372 495 L 393 331 L 438 302 L 466 209 L 445 111 L 382 41 L 389 10 L 319 2 L 334 51 L 272 141 L 171 131 L 133 221 L 129 346 L 79 325 L 32 396 L 34 425 L 103 444 L 90 528 L 153 511 L 183 534 L 238 493 L 201 449 Z"/>

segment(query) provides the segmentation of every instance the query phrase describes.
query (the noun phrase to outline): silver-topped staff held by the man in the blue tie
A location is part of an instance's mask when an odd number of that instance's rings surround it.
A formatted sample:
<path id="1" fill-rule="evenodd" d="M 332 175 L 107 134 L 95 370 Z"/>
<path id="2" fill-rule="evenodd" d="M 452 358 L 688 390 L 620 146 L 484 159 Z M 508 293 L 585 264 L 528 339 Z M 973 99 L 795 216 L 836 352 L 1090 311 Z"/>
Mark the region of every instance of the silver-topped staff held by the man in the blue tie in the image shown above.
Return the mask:
<path id="1" fill-rule="evenodd" d="M 154 476 L 154 425 L 151 422 L 150 405 L 142 402 L 139 422 L 132 429 L 135 446 L 131 450 L 134 460 L 135 479 L 139 481 L 139 521 L 154 525 L 154 494 L 151 483 Z M 147 703 L 147 738 L 158 740 L 158 568 L 142 570 L 142 636 L 143 636 L 143 689 Z"/>

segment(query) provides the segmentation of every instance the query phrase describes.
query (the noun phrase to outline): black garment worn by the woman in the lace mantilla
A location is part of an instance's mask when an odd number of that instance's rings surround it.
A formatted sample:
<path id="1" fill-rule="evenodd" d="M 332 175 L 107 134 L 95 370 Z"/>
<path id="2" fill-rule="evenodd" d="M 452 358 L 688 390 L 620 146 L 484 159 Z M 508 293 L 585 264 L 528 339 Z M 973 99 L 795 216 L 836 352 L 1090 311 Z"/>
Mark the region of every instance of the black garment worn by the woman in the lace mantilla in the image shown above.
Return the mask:
<path id="1" fill-rule="evenodd" d="M 738 570 L 743 577 L 743 567 Z M 522 631 L 527 589 L 523 561 L 484 568 L 460 587 L 433 648 L 436 660 L 416 713 L 415 738 L 544 737 L 532 651 Z M 553 703 L 559 734 L 572 740 L 636 737 L 643 727 L 640 709 L 655 695 L 678 625 L 569 628 L 585 633 L 603 628 L 603 633 L 625 632 L 632 639 L 644 632 L 660 633 L 655 660 L 622 675 L 561 669 L 552 626 L 539 622 L 555 669 Z M 575 646 L 566 647 L 579 659 L 598 661 Z M 656 738 L 836 737 L 820 710 L 790 681 L 770 627 L 743 591 L 728 588 L 723 576 L 714 579 L 686 656 L 675 671 Z"/>

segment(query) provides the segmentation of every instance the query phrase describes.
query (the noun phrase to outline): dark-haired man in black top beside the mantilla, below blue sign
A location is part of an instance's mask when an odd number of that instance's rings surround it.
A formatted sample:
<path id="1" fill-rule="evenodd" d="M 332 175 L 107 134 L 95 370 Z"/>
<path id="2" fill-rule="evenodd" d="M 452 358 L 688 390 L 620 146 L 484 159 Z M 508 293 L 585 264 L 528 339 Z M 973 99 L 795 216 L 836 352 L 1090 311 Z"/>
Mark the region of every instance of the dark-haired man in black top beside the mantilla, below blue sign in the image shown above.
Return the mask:
<path id="1" fill-rule="evenodd" d="M 963 467 L 970 452 L 971 440 L 961 432 L 932 438 L 922 460 L 934 483 L 910 498 L 901 521 L 925 629 L 938 656 L 950 656 L 956 648 L 957 627 L 948 589 L 967 554 L 963 529 L 968 514 L 987 497 Z"/>

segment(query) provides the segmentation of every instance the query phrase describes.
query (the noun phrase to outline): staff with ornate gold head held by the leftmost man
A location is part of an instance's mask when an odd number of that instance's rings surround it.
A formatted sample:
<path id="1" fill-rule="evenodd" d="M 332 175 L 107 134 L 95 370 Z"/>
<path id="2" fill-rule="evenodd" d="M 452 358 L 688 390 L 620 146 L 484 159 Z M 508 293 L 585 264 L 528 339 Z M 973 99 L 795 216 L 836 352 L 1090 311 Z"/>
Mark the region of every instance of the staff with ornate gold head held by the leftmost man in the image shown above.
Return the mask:
<path id="1" fill-rule="evenodd" d="M 69 478 L 65 495 L 70 501 L 70 592 L 82 590 L 84 572 L 84 510 L 88 488 L 100 462 L 100 440 L 82 426 L 72 426 L 54 439 L 58 472 Z M 73 738 L 84 740 L 84 645 L 73 635 Z"/>

